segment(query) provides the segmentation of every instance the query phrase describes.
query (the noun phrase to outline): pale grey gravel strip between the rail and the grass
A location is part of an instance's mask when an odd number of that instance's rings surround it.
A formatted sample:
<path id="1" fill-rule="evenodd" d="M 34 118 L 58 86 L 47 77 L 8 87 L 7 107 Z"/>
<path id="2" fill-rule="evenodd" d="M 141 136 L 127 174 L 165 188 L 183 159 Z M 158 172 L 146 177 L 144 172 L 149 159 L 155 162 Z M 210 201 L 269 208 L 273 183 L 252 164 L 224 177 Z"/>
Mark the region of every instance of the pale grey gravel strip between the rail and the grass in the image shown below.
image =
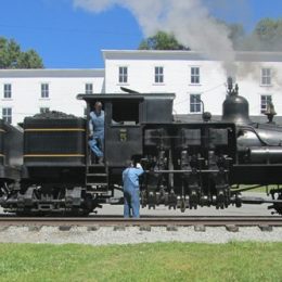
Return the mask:
<path id="1" fill-rule="evenodd" d="M 261 231 L 259 227 L 240 227 L 238 232 L 227 231 L 226 227 L 206 227 L 198 232 L 194 227 L 178 227 L 177 231 L 167 227 L 152 227 L 144 230 L 140 227 L 59 227 L 43 226 L 39 229 L 14 227 L 0 230 L 1 243 L 50 243 L 50 244 L 137 244 L 153 242 L 198 242 L 228 243 L 231 241 L 282 242 L 282 228 L 273 227 L 272 231 Z"/>

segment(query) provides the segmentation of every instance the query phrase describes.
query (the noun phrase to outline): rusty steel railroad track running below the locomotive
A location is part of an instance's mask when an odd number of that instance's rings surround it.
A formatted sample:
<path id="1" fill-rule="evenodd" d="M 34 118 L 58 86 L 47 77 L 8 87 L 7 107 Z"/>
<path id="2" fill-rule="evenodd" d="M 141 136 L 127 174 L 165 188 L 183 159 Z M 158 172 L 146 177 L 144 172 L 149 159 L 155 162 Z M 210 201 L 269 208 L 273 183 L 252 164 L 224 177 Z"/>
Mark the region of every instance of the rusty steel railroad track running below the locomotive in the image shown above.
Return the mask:
<path id="1" fill-rule="evenodd" d="M 1 226 L 119 226 L 119 227 L 188 227 L 188 226 L 270 226 L 282 227 L 282 217 L 246 217 L 246 216 L 193 216 L 193 217 L 142 217 L 124 219 L 123 217 L 14 217 L 1 216 Z"/>

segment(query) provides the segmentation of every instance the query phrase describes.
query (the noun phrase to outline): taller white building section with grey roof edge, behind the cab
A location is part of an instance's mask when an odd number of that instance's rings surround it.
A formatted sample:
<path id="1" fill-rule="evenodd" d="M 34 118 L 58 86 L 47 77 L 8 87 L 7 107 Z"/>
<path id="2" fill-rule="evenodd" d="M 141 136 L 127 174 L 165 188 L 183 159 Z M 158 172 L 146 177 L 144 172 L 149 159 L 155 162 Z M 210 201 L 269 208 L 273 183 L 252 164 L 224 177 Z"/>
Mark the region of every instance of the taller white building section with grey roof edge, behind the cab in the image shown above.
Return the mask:
<path id="1" fill-rule="evenodd" d="M 191 51 L 103 51 L 103 55 L 106 92 L 120 92 L 120 86 L 175 92 L 177 114 L 201 113 L 201 98 L 205 111 L 221 115 L 231 75 L 249 102 L 251 115 L 261 115 L 270 99 L 282 115 L 282 53 L 239 52 L 232 74 L 222 62 Z"/>

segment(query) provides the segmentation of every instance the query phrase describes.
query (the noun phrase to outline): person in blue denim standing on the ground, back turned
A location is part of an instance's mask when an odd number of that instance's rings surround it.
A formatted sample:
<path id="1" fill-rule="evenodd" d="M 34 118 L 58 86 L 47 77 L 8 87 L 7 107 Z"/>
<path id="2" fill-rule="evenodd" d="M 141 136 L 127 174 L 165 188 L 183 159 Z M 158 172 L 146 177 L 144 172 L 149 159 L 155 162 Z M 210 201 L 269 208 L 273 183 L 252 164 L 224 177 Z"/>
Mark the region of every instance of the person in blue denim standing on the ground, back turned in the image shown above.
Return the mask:
<path id="1" fill-rule="evenodd" d="M 128 167 L 123 171 L 124 182 L 124 217 L 140 217 L 140 188 L 139 177 L 144 172 L 140 164 L 136 166 L 130 162 Z"/>

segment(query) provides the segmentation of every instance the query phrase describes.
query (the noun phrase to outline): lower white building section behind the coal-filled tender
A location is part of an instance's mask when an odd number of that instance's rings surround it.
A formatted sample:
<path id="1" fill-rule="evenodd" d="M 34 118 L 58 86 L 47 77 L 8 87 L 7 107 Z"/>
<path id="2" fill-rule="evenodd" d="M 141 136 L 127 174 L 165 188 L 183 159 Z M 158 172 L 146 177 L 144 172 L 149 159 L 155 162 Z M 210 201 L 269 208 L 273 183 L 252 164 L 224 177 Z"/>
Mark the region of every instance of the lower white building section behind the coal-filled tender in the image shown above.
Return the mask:
<path id="1" fill-rule="evenodd" d="M 104 69 L 2 69 L 0 101 L 2 118 L 13 125 L 46 111 L 84 116 L 78 93 L 101 93 Z"/>

